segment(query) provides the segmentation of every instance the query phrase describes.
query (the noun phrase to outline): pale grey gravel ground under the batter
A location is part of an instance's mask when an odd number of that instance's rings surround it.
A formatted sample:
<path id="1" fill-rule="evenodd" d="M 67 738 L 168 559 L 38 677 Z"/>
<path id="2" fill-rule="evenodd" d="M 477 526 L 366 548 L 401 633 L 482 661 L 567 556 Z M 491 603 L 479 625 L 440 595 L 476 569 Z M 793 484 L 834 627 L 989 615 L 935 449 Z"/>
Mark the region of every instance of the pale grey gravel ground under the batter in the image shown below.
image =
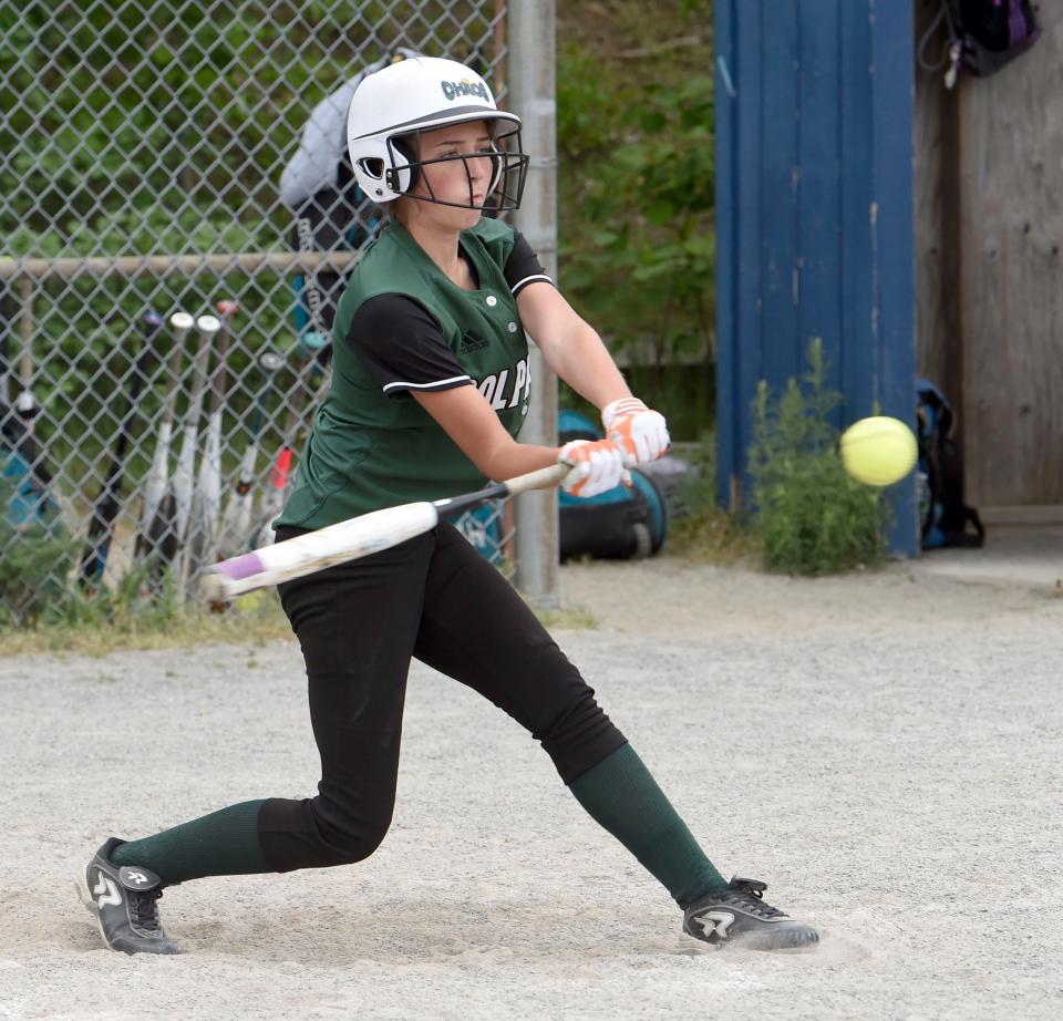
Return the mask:
<path id="1" fill-rule="evenodd" d="M 73 890 L 105 836 L 312 792 L 299 651 L 19 657 L 0 660 L 0 1018 L 1063 1013 L 1063 599 L 908 566 L 659 559 L 564 582 L 600 627 L 563 647 L 721 870 L 819 926 L 815 953 L 684 940 L 523 731 L 420 666 L 376 855 L 174 888 L 187 952 L 112 953 Z"/>

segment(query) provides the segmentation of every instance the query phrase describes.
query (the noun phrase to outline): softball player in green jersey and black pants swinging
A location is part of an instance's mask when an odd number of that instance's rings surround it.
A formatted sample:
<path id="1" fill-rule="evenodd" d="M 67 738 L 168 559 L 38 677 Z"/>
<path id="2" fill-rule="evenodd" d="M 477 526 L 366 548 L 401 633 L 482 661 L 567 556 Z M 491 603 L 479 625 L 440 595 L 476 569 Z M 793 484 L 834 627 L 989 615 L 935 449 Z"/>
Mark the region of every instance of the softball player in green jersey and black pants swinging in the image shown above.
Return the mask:
<path id="1" fill-rule="evenodd" d="M 278 538 L 410 501 L 478 488 L 560 461 L 590 496 L 668 447 L 598 336 L 513 228 L 528 157 L 520 121 L 461 64 L 410 59 L 369 75 L 348 140 L 359 185 L 390 212 L 340 300 L 331 391 Z M 516 441 L 547 364 L 602 412 L 608 440 L 560 450 Z M 587 812 L 683 909 L 687 934 L 761 949 L 814 945 L 815 929 L 764 903 L 763 883 L 713 867 L 594 691 L 517 594 L 448 524 L 287 582 L 321 755 L 314 797 L 221 808 L 142 839 L 110 838 L 86 870 L 109 947 L 176 952 L 165 887 L 200 876 L 359 862 L 391 823 L 411 657 L 467 684 L 541 743 Z"/>

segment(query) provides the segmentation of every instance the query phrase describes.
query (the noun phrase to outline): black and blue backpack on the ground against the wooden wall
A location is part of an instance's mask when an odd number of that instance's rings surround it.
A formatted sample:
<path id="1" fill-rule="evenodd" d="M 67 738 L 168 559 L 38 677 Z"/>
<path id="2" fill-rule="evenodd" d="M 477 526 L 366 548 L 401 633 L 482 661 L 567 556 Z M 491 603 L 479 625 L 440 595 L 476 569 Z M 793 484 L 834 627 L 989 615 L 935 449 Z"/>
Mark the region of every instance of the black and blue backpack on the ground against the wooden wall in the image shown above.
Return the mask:
<path id="1" fill-rule="evenodd" d="M 921 378 L 916 380 L 916 398 L 921 546 L 981 546 L 985 538 L 981 518 L 963 503 L 963 461 L 952 437 L 952 405 L 933 383 Z"/>

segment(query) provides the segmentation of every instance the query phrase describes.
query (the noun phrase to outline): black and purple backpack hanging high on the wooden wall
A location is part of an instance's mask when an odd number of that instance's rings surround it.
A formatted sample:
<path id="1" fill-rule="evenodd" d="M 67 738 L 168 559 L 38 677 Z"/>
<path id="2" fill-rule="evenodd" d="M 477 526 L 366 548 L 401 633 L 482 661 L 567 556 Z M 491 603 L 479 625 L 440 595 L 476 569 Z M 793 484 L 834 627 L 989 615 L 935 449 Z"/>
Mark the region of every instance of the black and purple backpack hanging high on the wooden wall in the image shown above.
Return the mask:
<path id="1" fill-rule="evenodd" d="M 951 42 L 947 83 L 956 81 L 957 63 L 985 78 L 1014 60 L 1041 37 L 1030 0 L 942 0 Z"/>

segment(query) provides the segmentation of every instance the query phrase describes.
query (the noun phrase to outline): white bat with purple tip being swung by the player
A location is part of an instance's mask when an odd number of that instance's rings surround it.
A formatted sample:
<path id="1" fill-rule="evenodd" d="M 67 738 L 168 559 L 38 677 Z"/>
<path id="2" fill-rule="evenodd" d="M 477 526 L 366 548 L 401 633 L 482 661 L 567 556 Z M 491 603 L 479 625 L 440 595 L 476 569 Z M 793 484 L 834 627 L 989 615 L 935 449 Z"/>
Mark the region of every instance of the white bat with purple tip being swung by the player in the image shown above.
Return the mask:
<path id="1" fill-rule="evenodd" d="M 208 567 L 200 577 L 200 598 L 208 602 L 225 602 L 258 588 L 390 549 L 431 530 L 441 517 L 469 511 L 488 499 L 504 499 L 528 489 L 557 485 L 569 471 L 568 465 L 554 464 L 463 496 L 373 511 L 223 560 Z"/>

